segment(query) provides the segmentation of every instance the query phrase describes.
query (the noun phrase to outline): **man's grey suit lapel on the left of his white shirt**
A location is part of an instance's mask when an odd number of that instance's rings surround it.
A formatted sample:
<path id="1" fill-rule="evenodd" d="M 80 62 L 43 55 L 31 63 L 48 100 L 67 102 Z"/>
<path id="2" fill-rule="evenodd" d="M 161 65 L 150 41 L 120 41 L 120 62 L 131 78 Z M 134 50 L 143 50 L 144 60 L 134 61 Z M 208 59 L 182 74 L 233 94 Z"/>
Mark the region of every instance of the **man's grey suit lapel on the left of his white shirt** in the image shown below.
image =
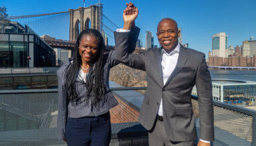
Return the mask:
<path id="1" fill-rule="evenodd" d="M 157 49 L 155 51 L 155 61 L 153 61 L 153 68 L 155 68 L 155 74 L 153 75 L 155 77 L 155 80 L 157 80 L 159 86 L 163 87 L 163 70 L 161 66 L 161 61 L 162 61 L 162 54 L 161 54 L 162 49 Z"/>

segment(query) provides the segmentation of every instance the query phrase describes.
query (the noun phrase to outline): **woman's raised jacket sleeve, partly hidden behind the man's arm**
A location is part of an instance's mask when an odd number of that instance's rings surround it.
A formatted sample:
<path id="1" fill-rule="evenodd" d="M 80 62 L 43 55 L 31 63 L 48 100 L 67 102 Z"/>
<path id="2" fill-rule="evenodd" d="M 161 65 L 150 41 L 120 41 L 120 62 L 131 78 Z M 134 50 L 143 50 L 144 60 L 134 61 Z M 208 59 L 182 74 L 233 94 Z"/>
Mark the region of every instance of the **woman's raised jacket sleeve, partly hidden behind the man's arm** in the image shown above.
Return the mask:
<path id="1" fill-rule="evenodd" d="M 136 42 L 139 37 L 139 31 L 140 31 L 140 29 L 138 27 L 135 27 L 135 29 L 131 29 L 131 32 L 129 33 L 129 37 L 127 37 L 129 39 L 128 40 L 129 45 L 127 48 L 129 53 L 132 53 L 135 50 Z M 125 33 L 125 32 L 121 32 L 121 33 Z M 127 38 L 125 38 L 125 39 L 127 39 Z M 117 44 L 115 44 L 115 46 L 117 46 Z M 114 49 L 113 51 L 111 51 L 109 53 L 109 64 L 110 64 L 111 68 L 120 63 L 118 60 L 115 59 L 115 56 L 116 56 L 116 50 Z"/>

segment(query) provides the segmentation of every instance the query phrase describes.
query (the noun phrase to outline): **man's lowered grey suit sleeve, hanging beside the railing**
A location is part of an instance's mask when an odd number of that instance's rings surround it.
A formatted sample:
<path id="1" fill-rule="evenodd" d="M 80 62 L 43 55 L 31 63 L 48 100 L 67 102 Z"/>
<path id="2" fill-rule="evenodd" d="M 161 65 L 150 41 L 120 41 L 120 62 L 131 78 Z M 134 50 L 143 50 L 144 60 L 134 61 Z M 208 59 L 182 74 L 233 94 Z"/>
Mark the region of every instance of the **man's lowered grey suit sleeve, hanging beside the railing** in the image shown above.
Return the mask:
<path id="1" fill-rule="evenodd" d="M 213 141 L 213 88 L 208 66 L 205 62 L 205 55 L 201 57 L 195 85 L 197 87 L 197 96 L 199 102 L 200 139 L 205 141 Z"/>

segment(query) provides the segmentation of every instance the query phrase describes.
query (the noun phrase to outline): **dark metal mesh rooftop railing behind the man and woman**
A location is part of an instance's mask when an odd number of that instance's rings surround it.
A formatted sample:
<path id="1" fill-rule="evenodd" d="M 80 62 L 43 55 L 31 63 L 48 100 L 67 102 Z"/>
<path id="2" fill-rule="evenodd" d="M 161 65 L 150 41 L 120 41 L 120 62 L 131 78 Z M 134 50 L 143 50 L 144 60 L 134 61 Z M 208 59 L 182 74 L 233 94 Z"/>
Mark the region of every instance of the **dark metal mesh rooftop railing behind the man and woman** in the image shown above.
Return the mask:
<path id="1" fill-rule="evenodd" d="M 111 83 L 119 106 L 110 110 L 111 145 L 148 145 L 147 131 L 137 117 L 145 87 Z M 57 89 L 1 90 L 0 145 L 66 145 L 57 139 Z M 199 106 L 191 98 L 199 135 Z M 214 104 L 213 145 L 255 145 L 256 111 L 221 102 Z"/>

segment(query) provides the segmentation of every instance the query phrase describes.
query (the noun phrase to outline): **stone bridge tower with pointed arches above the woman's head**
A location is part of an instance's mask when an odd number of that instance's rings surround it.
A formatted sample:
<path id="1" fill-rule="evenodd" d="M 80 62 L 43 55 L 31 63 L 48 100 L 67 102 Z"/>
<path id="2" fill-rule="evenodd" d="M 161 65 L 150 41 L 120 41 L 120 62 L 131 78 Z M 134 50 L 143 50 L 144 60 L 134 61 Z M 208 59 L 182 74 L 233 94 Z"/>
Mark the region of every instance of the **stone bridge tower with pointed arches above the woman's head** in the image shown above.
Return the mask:
<path id="1" fill-rule="evenodd" d="M 91 5 L 69 9 L 69 40 L 77 40 L 77 36 L 84 29 L 97 29 L 101 32 L 102 5 Z"/>

